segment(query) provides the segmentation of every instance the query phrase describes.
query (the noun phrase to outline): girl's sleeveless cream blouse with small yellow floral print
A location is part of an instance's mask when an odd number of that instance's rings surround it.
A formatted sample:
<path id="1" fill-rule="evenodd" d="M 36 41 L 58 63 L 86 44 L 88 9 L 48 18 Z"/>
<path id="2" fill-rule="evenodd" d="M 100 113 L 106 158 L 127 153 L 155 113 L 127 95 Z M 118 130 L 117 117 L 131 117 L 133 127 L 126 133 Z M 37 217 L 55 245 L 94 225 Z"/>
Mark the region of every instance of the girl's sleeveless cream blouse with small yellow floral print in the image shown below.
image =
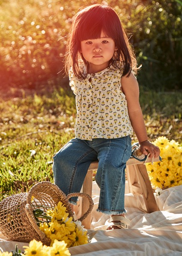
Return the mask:
<path id="1" fill-rule="evenodd" d="M 84 74 L 86 67 L 82 70 Z M 85 80 L 81 80 L 70 69 L 70 86 L 77 109 L 76 138 L 113 139 L 133 133 L 127 101 L 120 89 L 122 72 L 122 62 L 119 62 L 119 68 L 110 66 L 98 73 L 87 74 Z"/>

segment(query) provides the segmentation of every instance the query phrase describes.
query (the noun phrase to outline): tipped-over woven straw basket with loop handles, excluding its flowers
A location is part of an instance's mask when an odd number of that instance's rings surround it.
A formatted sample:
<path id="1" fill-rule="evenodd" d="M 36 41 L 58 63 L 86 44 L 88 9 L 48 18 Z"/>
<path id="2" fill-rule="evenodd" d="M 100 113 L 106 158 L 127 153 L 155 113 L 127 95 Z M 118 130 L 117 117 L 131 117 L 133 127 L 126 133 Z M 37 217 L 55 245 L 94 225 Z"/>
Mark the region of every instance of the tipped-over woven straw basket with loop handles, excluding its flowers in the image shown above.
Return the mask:
<path id="1" fill-rule="evenodd" d="M 32 196 L 33 202 L 31 202 Z M 58 202 L 61 201 L 65 204 L 69 217 L 73 217 L 69 205 L 69 198 L 71 197 L 87 197 L 89 200 L 89 209 L 78 219 L 82 222 L 93 208 L 92 198 L 88 194 L 72 193 L 66 197 L 57 185 L 51 182 L 39 182 L 28 193 L 6 197 L 0 202 L 0 231 L 12 241 L 29 243 L 36 239 L 49 246 L 51 240 L 39 229 L 33 210 L 41 208 L 40 205 L 48 210 L 50 207 L 57 206 Z"/>

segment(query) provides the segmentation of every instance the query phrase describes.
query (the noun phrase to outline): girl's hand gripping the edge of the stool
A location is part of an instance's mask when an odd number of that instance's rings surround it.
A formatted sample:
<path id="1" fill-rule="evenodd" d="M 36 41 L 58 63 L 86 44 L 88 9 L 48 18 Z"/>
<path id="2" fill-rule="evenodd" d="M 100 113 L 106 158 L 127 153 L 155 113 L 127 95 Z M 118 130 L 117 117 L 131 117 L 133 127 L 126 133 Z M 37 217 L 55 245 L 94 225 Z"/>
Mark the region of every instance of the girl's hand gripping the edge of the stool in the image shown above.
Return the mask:
<path id="1" fill-rule="evenodd" d="M 160 149 L 151 142 L 149 142 L 148 140 L 140 142 L 140 149 L 143 152 L 143 154 L 150 154 L 149 158 L 156 158 L 160 155 Z"/>

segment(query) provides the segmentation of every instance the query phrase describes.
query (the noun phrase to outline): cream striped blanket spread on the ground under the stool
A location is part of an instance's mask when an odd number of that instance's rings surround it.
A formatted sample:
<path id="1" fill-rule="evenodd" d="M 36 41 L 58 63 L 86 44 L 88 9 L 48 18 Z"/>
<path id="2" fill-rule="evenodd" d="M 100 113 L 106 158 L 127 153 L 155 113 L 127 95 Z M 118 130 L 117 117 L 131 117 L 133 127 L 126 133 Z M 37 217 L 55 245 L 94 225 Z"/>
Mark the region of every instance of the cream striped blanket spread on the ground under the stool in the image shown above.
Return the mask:
<path id="1" fill-rule="evenodd" d="M 104 231 L 109 216 L 97 213 L 99 189 L 93 182 L 94 209 L 88 230 L 89 244 L 69 248 L 77 256 L 182 256 L 182 186 L 168 188 L 156 197 L 160 211 L 146 213 L 143 197 L 129 194 L 126 184 L 126 217 L 129 229 Z M 0 233 L 0 247 L 4 251 L 22 250 L 25 243 L 9 241 Z"/>

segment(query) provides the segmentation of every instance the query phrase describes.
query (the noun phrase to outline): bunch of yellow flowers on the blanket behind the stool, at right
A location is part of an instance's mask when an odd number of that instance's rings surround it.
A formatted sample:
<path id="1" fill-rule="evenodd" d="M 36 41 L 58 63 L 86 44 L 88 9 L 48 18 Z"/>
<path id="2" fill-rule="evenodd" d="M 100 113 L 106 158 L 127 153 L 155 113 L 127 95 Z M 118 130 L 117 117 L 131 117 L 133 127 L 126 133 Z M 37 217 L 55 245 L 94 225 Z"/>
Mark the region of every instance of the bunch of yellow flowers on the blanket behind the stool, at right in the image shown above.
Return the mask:
<path id="1" fill-rule="evenodd" d="M 163 136 L 153 143 L 160 148 L 162 161 L 146 164 L 152 185 L 162 189 L 182 185 L 182 147 Z"/>

